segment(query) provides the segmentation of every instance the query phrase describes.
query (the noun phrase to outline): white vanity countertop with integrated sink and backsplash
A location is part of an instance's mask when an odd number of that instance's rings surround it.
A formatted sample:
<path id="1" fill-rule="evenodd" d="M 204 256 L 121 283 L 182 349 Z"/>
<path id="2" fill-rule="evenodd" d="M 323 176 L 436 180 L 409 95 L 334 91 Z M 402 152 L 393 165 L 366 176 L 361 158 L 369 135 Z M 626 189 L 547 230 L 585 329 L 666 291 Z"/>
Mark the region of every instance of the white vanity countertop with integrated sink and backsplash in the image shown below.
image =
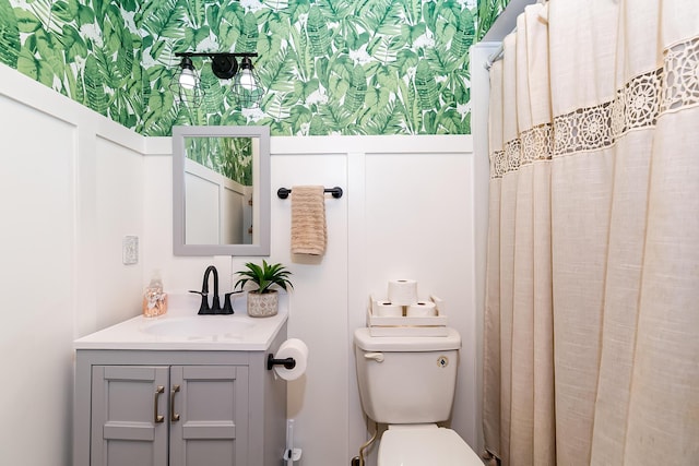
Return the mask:
<path id="1" fill-rule="evenodd" d="M 165 315 L 129 319 L 74 340 L 73 347 L 263 351 L 270 347 L 288 316 L 286 296 L 280 296 L 280 311 L 270 318 L 249 316 L 245 298 L 234 301 L 235 313 L 232 315 L 198 315 L 200 298 L 193 298 L 169 296 L 169 309 Z"/>

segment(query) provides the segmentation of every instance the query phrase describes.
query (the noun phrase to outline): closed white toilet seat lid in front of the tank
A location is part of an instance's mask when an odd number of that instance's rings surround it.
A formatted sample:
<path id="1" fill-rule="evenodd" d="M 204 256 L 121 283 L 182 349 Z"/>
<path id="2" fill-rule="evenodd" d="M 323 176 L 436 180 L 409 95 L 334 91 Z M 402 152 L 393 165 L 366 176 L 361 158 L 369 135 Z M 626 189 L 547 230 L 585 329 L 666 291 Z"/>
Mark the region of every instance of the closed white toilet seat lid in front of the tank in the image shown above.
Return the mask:
<path id="1" fill-rule="evenodd" d="M 378 466 L 483 466 L 451 429 L 437 425 L 389 426 L 379 442 Z"/>

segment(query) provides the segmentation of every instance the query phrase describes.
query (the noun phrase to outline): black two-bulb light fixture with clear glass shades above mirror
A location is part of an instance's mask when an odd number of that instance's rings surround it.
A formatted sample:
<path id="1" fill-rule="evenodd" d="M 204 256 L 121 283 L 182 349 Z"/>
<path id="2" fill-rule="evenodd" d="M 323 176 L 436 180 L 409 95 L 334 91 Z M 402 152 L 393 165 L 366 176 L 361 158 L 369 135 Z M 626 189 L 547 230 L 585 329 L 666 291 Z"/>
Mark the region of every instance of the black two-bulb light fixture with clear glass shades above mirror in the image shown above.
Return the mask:
<path id="1" fill-rule="evenodd" d="M 250 59 L 257 56 L 257 52 L 176 52 L 175 57 L 181 57 L 182 60 L 173 76 L 170 89 L 179 97 L 180 101 L 198 107 L 204 96 L 204 91 L 201 88 L 201 80 L 191 58 L 209 57 L 211 71 L 216 77 L 220 80 L 234 79 L 232 91 L 238 104 L 245 108 L 257 107 L 262 99 L 262 86 Z M 242 59 L 240 64 L 238 64 L 238 58 Z"/>

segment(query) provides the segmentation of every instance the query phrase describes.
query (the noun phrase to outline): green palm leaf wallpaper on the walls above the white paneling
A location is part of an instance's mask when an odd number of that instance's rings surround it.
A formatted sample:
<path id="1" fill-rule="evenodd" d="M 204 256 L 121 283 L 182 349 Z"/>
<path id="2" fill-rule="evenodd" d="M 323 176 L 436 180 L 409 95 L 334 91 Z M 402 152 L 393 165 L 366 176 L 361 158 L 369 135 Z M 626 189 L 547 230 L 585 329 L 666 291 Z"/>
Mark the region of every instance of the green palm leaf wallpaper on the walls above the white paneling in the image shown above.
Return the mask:
<path id="1" fill-rule="evenodd" d="M 273 135 L 469 134 L 469 47 L 507 0 L 0 0 L 0 62 L 144 135 L 264 124 Z M 177 51 L 259 53 L 259 108 Z"/>

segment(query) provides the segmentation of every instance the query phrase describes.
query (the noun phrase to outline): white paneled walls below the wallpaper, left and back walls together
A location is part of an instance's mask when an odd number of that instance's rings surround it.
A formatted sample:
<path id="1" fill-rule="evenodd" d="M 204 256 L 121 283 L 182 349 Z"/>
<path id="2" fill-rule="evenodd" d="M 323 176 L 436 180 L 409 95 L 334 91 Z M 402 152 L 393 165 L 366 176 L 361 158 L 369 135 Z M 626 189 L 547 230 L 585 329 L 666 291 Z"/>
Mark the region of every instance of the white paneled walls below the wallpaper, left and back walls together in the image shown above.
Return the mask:
<path id="1" fill-rule="evenodd" d="M 0 152 L 0 358 L 12 381 L 0 384 L 12 419 L 0 427 L 0 451 L 8 464 L 68 466 L 72 338 L 138 314 L 152 270 L 166 289 L 186 291 L 213 263 L 229 288 L 233 271 L 258 258 L 173 256 L 168 138 L 141 138 L 2 65 L 0 116 L 11 129 Z M 291 256 L 291 200 L 272 199 L 270 259 L 294 274 L 289 335 L 310 348 L 288 395 L 304 466 L 348 464 L 367 438 L 352 332 L 369 294 L 395 277 L 447 301 L 463 337 L 452 425 L 475 446 L 477 166 L 470 136 L 272 139 L 273 192 L 345 190 L 325 203 L 319 260 Z M 127 235 L 140 238 L 137 265 L 121 263 Z"/>

